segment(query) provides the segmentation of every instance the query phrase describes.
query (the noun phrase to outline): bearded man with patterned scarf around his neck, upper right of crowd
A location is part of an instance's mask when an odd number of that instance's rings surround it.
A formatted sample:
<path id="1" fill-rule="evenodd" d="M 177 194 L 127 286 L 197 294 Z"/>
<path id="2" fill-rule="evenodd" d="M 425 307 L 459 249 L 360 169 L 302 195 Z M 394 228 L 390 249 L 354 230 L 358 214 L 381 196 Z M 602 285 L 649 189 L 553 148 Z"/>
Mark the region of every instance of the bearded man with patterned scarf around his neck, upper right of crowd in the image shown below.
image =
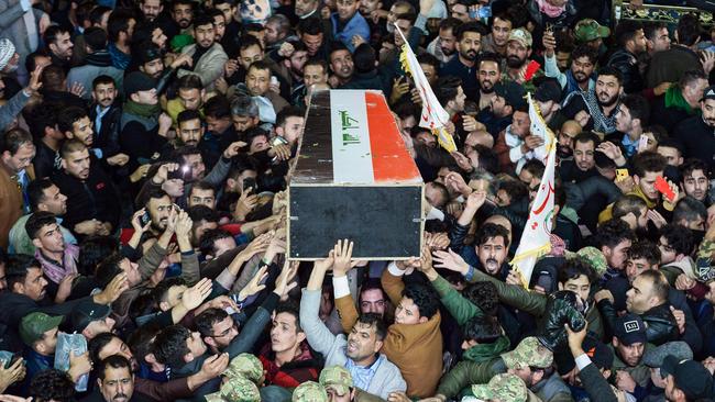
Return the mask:
<path id="1" fill-rule="evenodd" d="M 566 119 L 579 122 L 584 131 L 612 134 L 616 132 L 616 113 L 623 94 L 622 82 L 620 71 L 606 66 L 598 71 L 594 89 L 587 92 L 572 92 L 561 111 Z M 715 100 L 715 91 L 713 99 Z M 713 114 L 715 115 L 715 109 Z M 715 123 L 713 125 L 715 126 Z M 713 141 L 715 143 L 715 138 Z"/>

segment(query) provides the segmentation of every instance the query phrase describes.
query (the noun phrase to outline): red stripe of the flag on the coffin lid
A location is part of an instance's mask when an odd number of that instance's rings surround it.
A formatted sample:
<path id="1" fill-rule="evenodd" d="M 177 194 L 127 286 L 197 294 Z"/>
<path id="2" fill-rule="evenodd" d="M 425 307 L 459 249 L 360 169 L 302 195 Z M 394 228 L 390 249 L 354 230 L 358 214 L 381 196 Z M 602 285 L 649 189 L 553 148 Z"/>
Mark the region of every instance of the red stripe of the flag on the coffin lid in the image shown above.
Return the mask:
<path id="1" fill-rule="evenodd" d="M 405 148 L 385 97 L 365 91 L 365 105 L 375 181 L 419 180 L 417 166 Z"/>

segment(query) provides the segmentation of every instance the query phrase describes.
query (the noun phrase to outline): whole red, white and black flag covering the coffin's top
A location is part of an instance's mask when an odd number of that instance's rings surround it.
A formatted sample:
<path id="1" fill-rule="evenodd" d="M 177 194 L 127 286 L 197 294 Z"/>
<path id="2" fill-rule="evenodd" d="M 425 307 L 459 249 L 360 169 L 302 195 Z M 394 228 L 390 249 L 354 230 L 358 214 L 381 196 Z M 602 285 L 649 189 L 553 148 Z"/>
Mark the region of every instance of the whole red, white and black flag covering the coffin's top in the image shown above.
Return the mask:
<path id="1" fill-rule="evenodd" d="M 421 183 L 381 91 L 319 91 L 310 100 L 292 183 Z"/>

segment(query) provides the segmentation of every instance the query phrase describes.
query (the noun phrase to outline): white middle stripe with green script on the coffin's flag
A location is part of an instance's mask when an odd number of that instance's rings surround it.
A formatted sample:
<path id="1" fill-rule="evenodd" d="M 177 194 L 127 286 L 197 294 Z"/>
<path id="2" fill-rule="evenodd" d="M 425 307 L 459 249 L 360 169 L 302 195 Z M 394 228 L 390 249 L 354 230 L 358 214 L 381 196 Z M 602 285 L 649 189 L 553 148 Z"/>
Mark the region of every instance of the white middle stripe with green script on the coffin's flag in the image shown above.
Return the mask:
<path id="1" fill-rule="evenodd" d="M 337 183 L 374 182 L 363 91 L 330 91 L 332 176 Z"/>

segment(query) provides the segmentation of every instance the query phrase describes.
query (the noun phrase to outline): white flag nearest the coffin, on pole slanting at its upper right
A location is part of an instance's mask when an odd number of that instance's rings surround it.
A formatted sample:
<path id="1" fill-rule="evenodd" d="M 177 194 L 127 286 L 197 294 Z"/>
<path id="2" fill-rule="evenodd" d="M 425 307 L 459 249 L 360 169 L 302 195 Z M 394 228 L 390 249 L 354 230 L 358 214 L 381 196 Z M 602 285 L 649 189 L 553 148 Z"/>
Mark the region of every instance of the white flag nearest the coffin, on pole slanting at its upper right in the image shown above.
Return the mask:
<path id="1" fill-rule="evenodd" d="M 454 144 L 454 138 L 444 130 L 449 123 L 450 115 L 439 103 L 435 92 L 432 92 L 432 88 L 429 86 L 427 77 L 425 77 L 425 71 L 422 71 L 422 67 L 417 62 L 415 53 L 409 47 L 407 38 L 398 26 L 395 26 L 395 32 L 399 33 L 404 42 L 399 60 L 403 64 L 403 68 L 413 77 L 415 87 L 419 91 L 419 97 L 422 100 L 422 116 L 419 120 L 419 126 L 430 129 L 432 134 L 437 135 L 439 144 L 447 152 L 452 153 L 457 150 L 457 145 Z"/>

